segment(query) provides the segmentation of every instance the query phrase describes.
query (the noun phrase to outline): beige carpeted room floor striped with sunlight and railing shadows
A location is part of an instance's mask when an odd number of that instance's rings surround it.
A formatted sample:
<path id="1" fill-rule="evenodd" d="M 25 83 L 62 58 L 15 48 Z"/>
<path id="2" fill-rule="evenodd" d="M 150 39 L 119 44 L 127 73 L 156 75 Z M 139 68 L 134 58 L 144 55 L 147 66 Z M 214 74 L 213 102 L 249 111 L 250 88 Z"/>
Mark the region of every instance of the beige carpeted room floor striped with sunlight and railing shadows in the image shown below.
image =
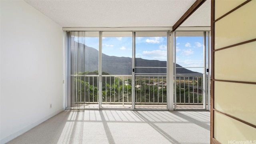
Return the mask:
<path id="1" fill-rule="evenodd" d="M 65 110 L 7 144 L 209 144 L 210 112 Z"/>

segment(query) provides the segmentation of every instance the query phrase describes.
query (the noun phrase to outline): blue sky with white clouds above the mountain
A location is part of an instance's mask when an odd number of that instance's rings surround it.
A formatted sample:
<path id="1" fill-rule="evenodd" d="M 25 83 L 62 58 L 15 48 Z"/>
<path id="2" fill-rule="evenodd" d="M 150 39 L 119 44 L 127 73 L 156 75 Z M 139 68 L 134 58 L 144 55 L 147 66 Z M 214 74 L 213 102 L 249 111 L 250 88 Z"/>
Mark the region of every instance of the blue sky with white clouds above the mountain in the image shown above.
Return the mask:
<path id="1" fill-rule="evenodd" d="M 98 38 L 86 38 L 86 45 L 98 50 Z M 132 37 L 102 38 L 102 53 L 132 57 Z M 136 37 L 136 58 L 167 60 L 166 37 Z M 203 67 L 203 37 L 176 37 L 176 63 L 183 67 Z M 202 72 L 202 68 L 188 68 Z"/>

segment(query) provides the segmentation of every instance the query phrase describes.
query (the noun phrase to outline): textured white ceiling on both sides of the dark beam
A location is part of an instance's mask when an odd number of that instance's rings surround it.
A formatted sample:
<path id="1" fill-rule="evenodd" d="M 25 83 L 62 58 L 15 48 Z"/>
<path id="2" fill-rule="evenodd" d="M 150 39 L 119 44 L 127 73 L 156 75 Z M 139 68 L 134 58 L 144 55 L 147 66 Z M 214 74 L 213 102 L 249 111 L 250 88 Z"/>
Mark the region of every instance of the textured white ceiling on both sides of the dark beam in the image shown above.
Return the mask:
<path id="1" fill-rule="evenodd" d="M 62 27 L 170 27 L 196 0 L 25 1 Z M 182 26 L 210 26 L 210 6 L 203 5 Z"/>

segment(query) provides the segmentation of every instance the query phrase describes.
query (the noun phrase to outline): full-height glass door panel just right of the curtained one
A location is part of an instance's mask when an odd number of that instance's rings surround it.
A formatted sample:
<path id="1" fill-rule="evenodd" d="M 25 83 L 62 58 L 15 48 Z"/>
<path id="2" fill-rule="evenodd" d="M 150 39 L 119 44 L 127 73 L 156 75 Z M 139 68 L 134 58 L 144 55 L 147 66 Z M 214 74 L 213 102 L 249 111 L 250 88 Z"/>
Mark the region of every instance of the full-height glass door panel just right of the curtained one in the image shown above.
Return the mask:
<path id="1" fill-rule="evenodd" d="M 132 32 L 102 32 L 102 108 L 132 108 Z"/>

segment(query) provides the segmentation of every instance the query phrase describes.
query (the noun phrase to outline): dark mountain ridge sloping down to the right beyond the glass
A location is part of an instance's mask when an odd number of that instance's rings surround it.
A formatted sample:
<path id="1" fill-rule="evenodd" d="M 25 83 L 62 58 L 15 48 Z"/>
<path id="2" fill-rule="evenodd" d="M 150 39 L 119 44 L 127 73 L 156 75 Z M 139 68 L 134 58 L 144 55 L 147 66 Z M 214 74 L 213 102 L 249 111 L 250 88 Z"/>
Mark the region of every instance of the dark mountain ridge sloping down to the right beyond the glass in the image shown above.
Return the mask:
<path id="1" fill-rule="evenodd" d="M 79 60 L 81 67 L 80 72 L 83 71 L 94 71 L 98 70 L 98 50 L 92 47 L 88 47 L 84 44 L 78 43 L 78 51 L 80 55 L 74 56 L 74 58 Z M 74 53 L 74 52 L 73 52 Z M 83 55 L 84 54 L 84 55 Z M 76 55 L 76 54 L 75 54 Z M 160 60 L 145 60 L 142 58 L 135 59 L 136 67 L 166 67 L 166 61 Z M 76 66 L 75 66 L 76 67 Z M 182 67 L 176 64 L 176 67 Z M 76 68 L 75 68 L 76 69 Z M 117 57 L 108 56 L 102 54 L 102 71 L 108 72 L 109 74 L 119 74 L 119 75 L 130 75 L 132 74 L 132 58 L 129 57 Z M 166 73 L 166 68 L 136 68 L 136 73 Z M 194 72 L 186 68 L 177 68 L 177 74 L 200 74 L 199 72 Z"/>

